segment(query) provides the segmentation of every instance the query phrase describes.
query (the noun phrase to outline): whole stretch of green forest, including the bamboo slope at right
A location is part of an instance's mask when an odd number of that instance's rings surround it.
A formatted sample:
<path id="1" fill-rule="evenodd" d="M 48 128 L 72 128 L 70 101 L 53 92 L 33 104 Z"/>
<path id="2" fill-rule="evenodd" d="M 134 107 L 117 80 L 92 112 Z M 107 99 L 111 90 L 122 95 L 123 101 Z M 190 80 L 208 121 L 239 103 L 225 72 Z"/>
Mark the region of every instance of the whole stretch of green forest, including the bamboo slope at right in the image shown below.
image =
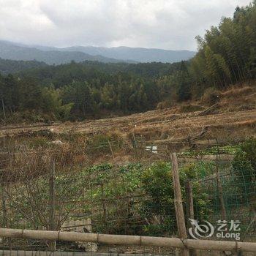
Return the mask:
<path id="1" fill-rule="evenodd" d="M 134 113 L 198 99 L 208 88 L 222 90 L 253 80 L 256 1 L 237 7 L 233 18 L 222 18 L 197 42 L 196 56 L 175 64 L 72 61 L 3 74 L 1 118 L 75 120 Z"/>

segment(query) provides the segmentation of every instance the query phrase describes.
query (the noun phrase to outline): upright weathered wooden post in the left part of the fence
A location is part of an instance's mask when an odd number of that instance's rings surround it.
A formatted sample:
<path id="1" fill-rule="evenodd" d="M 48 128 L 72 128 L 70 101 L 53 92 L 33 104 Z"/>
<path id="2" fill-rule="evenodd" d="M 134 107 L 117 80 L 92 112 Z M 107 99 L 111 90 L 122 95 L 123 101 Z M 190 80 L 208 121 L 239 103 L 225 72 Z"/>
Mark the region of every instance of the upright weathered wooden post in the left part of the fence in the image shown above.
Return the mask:
<path id="1" fill-rule="evenodd" d="M 49 177 L 49 230 L 56 230 L 55 162 L 50 164 Z M 56 241 L 49 241 L 51 252 L 56 251 Z"/>

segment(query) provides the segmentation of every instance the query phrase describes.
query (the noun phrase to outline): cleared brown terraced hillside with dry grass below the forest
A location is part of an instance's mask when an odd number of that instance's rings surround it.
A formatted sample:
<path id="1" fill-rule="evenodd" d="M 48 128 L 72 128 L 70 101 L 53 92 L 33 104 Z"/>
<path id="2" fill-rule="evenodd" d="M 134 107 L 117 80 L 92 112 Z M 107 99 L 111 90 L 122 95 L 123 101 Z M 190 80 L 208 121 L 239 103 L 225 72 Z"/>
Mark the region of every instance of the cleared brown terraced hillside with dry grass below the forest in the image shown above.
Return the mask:
<path id="1" fill-rule="evenodd" d="M 81 132 L 88 135 L 121 132 L 124 138 L 133 133 L 158 143 L 187 141 L 189 136 L 200 135 L 202 129 L 207 129 L 203 140 L 217 139 L 219 143 L 238 142 L 256 136 L 255 87 L 230 89 L 220 94 L 219 98 L 214 108 L 205 107 L 204 110 L 195 112 L 180 113 L 184 105 L 178 105 L 174 108 L 152 110 L 130 116 L 77 123 L 1 127 L 1 136 L 26 134 L 40 129 L 51 129 L 56 133 Z"/>

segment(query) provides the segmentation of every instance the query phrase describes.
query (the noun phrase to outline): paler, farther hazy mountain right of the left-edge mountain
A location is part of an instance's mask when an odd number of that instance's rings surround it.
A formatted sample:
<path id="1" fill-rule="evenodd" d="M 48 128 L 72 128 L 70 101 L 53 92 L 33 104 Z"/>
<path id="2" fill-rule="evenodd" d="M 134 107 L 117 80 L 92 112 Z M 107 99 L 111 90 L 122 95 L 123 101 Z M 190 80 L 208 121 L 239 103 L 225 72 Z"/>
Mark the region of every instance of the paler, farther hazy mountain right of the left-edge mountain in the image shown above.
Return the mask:
<path id="1" fill-rule="evenodd" d="M 114 59 L 127 59 L 137 62 L 178 62 L 191 59 L 195 56 L 194 51 L 189 50 L 162 50 L 148 48 L 129 48 L 129 47 L 93 47 L 93 46 L 73 46 L 61 48 L 60 50 L 80 51 L 91 55 L 101 55 Z"/>

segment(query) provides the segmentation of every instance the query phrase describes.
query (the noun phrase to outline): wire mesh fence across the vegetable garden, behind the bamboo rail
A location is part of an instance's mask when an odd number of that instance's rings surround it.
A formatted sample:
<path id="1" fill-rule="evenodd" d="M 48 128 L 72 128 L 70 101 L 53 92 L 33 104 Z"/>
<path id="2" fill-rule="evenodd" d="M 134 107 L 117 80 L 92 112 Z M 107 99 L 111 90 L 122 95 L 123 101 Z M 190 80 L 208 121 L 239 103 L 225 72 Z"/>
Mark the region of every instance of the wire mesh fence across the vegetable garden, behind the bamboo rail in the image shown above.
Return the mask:
<path id="1" fill-rule="evenodd" d="M 143 143 L 143 140 L 141 143 L 136 140 L 132 146 L 136 162 L 120 165 L 91 165 L 88 147 L 86 150 L 57 147 L 44 151 L 22 148 L 10 151 L 10 148 L 3 148 L 0 160 L 1 227 L 177 237 L 167 148 L 158 148 L 154 152 L 156 148 L 152 146 L 148 151 Z M 124 143 L 120 140 L 108 140 L 98 147 L 92 147 L 91 154 L 92 151 L 94 155 L 108 152 L 113 157 L 122 145 Z M 190 237 L 199 234 L 195 238 L 221 241 L 238 241 L 238 233 L 239 241 L 255 241 L 255 176 L 248 163 L 236 162 L 233 157 L 219 157 L 221 153 L 227 154 L 227 151 L 230 148 L 214 148 L 208 151 L 212 157 L 207 160 L 197 157 L 198 154 L 192 151 L 180 151 L 178 154 L 181 159 L 179 174 L 187 233 Z M 206 155 L 202 152 L 200 156 Z M 165 157 L 162 157 L 164 153 Z M 154 158 L 146 162 L 142 159 L 145 154 L 154 155 Z M 184 160 L 184 157 L 192 161 Z M 188 181 L 192 191 L 192 215 Z M 195 233 L 196 226 L 189 218 L 197 219 L 197 225 L 211 223 L 214 233 L 211 234 L 211 230 Z M 222 230 L 219 230 L 221 225 Z M 233 230 L 234 226 L 236 230 Z M 227 235 L 230 231 L 235 235 Z M 63 241 L 51 244 L 50 241 L 20 238 L 3 238 L 1 243 L 2 255 L 10 253 L 9 249 L 12 249 L 12 255 L 15 252 L 19 255 L 22 252 L 26 252 L 26 255 L 40 252 L 43 255 L 51 246 L 62 251 L 55 252 L 56 255 L 70 255 L 69 252 L 82 255 L 179 253 L 178 249 L 161 246 L 110 246 Z M 197 255 L 222 255 L 222 252 L 198 251 Z"/>

